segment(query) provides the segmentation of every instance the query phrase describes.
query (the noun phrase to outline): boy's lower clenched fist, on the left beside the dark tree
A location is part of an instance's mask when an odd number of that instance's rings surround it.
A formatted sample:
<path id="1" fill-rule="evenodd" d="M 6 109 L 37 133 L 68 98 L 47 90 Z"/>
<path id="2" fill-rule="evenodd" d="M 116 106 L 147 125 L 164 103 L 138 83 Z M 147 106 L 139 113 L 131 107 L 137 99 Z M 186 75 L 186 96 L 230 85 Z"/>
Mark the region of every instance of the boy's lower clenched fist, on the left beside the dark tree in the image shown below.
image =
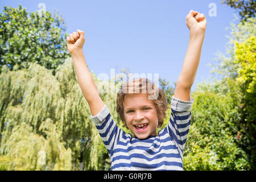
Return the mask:
<path id="1" fill-rule="evenodd" d="M 67 36 L 67 47 L 70 54 L 72 54 L 73 51 L 77 49 L 82 49 L 82 46 L 84 46 L 85 38 L 84 38 L 84 32 L 77 30 L 76 32 L 73 32 L 73 34 L 70 34 Z"/>

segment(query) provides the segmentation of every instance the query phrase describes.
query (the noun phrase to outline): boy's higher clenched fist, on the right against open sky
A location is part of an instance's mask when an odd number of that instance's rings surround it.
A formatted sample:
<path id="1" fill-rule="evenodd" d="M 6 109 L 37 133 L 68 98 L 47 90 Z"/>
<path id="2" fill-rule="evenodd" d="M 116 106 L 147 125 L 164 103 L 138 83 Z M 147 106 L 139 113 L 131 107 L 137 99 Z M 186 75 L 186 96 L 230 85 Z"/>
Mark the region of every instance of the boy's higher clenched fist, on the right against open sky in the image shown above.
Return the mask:
<path id="1" fill-rule="evenodd" d="M 186 23 L 190 31 L 205 31 L 207 26 L 205 15 L 193 10 L 189 11 L 186 17 Z"/>

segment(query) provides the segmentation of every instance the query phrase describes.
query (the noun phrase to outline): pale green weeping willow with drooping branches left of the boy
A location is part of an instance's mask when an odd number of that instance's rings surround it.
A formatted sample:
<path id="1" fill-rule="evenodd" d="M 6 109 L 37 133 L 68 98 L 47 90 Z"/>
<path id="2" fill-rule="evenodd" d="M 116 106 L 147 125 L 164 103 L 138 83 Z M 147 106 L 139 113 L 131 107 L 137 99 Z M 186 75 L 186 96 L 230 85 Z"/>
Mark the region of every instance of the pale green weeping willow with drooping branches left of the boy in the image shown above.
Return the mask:
<path id="1" fill-rule="evenodd" d="M 3 71 L 0 166 L 24 170 L 108 168 L 108 154 L 90 118 L 71 59 L 58 67 L 56 76 L 36 63 L 30 63 L 28 69 Z M 100 80 L 92 75 L 98 85 Z M 115 97 L 115 93 L 101 93 L 113 118 L 121 123 L 114 113 Z M 44 154 L 45 164 L 38 163 Z"/>

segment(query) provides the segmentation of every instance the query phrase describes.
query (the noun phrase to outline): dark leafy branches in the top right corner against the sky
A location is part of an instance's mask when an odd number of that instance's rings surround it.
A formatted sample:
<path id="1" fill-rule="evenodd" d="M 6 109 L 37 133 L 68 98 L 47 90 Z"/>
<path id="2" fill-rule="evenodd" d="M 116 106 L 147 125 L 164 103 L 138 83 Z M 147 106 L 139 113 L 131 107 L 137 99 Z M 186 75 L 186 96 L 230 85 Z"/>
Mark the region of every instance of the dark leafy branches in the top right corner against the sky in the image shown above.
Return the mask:
<path id="1" fill-rule="evenodd" d="M 250 17 L 255 17 L 255 0 L 222 0 L 222 3 L 238 10 L 242 21 Z"/>

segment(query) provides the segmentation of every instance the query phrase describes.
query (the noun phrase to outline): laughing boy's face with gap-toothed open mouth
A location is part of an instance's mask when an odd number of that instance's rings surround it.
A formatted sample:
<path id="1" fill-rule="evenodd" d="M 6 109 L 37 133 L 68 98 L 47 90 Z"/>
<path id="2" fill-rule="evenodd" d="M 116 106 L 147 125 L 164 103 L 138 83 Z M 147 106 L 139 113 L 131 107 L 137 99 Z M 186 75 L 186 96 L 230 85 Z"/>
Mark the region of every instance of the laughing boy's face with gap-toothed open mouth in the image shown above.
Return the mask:
<path id="1" fill-rule="evenodd" d="M 123 113 L 129 130 L 139 139 L 156 135 L 158 114 L 152 100 L 144 93 L 127 94 L 123 101 Z"/>

